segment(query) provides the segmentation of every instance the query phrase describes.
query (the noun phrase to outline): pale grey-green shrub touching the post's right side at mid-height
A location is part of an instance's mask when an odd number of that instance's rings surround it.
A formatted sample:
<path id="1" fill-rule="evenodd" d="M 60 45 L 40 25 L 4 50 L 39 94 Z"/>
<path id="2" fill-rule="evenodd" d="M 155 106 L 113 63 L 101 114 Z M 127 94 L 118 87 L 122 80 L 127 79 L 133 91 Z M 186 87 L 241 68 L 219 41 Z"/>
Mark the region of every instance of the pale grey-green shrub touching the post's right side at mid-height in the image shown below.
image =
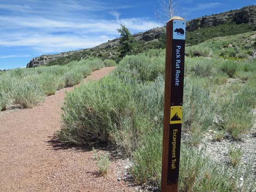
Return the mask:
<path id="1" fill-rule="evenodd" d="M 209 91 L 185 79 L 182 126 L 185 132 L 190 133 L 191 145 L 197 146 L 205 131 L 212 126 L 214 103 L 209 96 Z"/>

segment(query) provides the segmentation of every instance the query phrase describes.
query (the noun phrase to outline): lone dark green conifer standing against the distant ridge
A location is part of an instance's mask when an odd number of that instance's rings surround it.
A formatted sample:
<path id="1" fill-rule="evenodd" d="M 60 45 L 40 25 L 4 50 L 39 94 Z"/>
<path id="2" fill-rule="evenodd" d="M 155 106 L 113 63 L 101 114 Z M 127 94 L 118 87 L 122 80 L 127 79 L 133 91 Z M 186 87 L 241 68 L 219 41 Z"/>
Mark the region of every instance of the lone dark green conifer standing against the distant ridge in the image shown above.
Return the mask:
<path id="1" fill-rule="evenodd" d="M 132 49 L 134 47 L 135 38 L 131 35 L 129 29 L 127 29 L 123 24 L 121 24 L 121 28 L 117 29 L 120 33 L 120 57 L 125 57 L 126 54 L 131 54 Z"/>

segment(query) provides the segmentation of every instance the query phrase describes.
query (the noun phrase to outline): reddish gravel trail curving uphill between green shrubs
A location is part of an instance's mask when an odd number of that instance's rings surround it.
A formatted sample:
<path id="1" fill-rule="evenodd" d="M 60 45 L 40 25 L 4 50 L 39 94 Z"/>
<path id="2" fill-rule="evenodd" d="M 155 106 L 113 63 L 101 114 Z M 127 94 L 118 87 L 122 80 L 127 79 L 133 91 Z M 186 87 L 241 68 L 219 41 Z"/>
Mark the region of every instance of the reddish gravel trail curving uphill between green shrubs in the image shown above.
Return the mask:
<path id="1" fill-rule="evenodd" d="M 114 67 L 94 71 L 100 79 Z M 66 88 L 33 109 L 0 113 L 0 191 L 135 191 L 117 181 L 121 160 L 111 162 L 107 177 L 97 176 L 93 152 L 55 148 Z"/>

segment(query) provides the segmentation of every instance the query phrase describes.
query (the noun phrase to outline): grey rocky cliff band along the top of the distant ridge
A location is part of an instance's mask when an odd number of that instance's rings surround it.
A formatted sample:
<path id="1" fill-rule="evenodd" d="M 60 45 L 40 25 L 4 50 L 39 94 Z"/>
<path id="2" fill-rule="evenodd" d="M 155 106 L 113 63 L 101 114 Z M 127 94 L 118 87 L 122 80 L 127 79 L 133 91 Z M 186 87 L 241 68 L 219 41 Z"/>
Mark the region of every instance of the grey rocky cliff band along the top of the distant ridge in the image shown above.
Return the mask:
<path id="1" fill-rule="evenodd" d="M 248 7 L 244 7 L 242 9 L 232 10 L 232 11 L 228 11 L 221 14 L 195 18 L 186 23 L 186 26 L 187 26 L 186 30 L 190 32 L 199 28 L 218 26 L 220 24 L 232 23 L 232 22 L 236 24 L 248 23 L 252 26 L 256 26 L 256 5 L 251 5 Z M 160 27 L 160 28 L 150 29 L 144 33 L 134 34 L 133 36 L 137 41 L 143 40 L 145 43 L 147 43 L 150 41 L 158 40 L 161 37 L 161 35 L 164 33 L 165 33 L 165 27 Z M 99 46 L 96 46 L 92 49 L 95 49 L 95 48 L 108 49 L 108 48 L 117 47 L 117 46 L 119 46 L 119 39 L 114 39 L 104 44 L 101 44 Z M 53 54 L 53 55 L 41 55 L 40 57 L 33 58 L 27 64 L 27 67 L 47 65 L 53 60 L 56 60 L 62 57 L 71 56 L 74 53 L 83 52 L 84 50 L 85 49 L 82 49 L 79 51 Z"/>

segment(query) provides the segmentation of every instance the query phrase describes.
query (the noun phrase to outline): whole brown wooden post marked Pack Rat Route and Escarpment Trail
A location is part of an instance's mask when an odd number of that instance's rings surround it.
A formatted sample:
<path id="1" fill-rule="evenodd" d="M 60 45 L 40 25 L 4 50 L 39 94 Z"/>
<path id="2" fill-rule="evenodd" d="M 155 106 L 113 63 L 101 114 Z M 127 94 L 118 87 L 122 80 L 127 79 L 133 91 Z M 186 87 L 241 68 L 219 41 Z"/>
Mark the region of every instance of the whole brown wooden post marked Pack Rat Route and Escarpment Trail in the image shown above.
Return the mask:
<path id="1" fill-rule="evenodd" d="M 185 33 L 183 18 L 173 17 L 167 22 L 161 192 L 178 191 Z"/>

